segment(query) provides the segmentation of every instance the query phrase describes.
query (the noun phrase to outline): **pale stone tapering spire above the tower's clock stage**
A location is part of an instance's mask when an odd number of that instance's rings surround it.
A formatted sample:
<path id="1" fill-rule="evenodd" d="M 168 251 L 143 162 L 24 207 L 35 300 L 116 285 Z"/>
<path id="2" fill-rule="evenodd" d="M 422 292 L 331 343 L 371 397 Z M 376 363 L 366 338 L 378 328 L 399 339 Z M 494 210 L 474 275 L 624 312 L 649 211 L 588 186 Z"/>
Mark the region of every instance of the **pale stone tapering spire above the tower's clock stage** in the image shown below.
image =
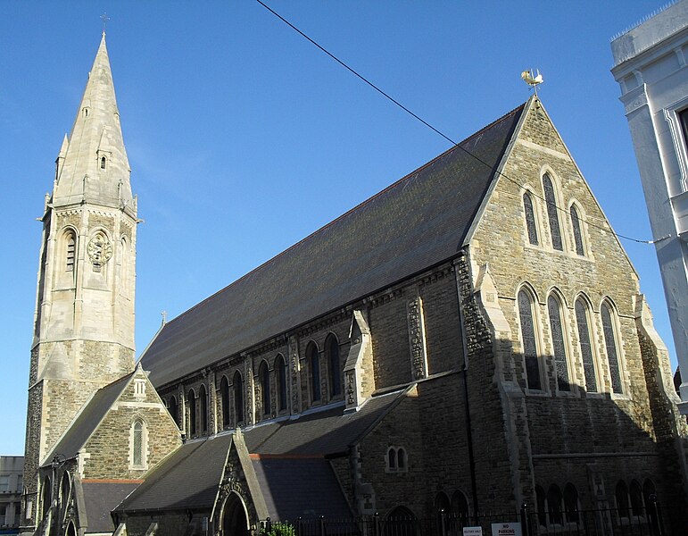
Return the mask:
<path id="1" fill-rule="evenodd" d="M 64 148 L 64 144 L 62 145 Z M 105 34 L 90 73 L 69 144 L 57 172 L 53 205 L 89 203 L 135 209 Z"/>

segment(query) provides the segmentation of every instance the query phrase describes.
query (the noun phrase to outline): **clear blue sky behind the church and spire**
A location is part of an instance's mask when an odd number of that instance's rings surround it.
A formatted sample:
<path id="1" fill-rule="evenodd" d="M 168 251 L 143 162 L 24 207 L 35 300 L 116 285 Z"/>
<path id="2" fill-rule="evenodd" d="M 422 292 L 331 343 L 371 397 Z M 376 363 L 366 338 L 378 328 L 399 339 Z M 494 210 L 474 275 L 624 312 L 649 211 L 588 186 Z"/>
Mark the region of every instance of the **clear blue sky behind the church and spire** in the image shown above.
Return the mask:
<path id="1" fill-rule="evenodd" d="M 453 139 L 540 96 L 613 228 L 651 239 L 609 38 L 661 7 L 626 2 L 269 5 Z M 108 13 L 145 220 L 137 351 L 225 287 L 442 153 L 448 142 L 253 0 L 0 3 L 5 289 L 0 454 L 23 452 L 43 198 Z M 623 241 L 676 366 L 654 248 Z"/>

